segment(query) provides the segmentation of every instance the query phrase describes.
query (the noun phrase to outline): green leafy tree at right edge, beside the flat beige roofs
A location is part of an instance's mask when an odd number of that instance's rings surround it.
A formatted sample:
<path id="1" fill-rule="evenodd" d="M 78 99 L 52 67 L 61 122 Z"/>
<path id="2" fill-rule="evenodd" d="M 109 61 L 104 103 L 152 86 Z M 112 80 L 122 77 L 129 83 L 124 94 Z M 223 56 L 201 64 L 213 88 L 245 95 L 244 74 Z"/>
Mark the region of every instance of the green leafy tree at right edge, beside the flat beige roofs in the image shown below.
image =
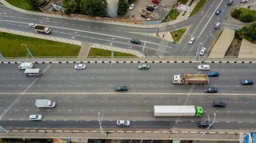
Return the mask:
<path id="1" fill-rule="evenodd" d="M 248 41 L 256 40 L 256 23 L 252 23 L 240 29 L 239 37 L 247 39 Z"/>

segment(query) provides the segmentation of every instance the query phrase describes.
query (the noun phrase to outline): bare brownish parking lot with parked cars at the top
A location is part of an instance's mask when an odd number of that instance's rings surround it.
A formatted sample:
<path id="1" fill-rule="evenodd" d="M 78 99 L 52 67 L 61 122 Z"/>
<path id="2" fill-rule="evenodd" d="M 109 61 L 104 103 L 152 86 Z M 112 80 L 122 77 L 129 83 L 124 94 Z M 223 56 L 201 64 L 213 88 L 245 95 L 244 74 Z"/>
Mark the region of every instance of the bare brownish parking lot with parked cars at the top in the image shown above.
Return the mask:
<path id="1" fill-rule="evenodd" d="M 141 17 L 141 14 L 144 13 L 149 16 L 152 13 L 151 11 L 146 11 L 147 6 L 149 6 L 150 4 L 153 4 L 154 6 L 157 7 L 157 4 L 152 3 L 152 0 L 135 0 L 134 4 L 135 4 L 134 9 L 132 10 L 128 9 L 127 13 L 120 18 L 128 19 L 128 20 L 145 21 L 146 19 L 144 17 Z"/>

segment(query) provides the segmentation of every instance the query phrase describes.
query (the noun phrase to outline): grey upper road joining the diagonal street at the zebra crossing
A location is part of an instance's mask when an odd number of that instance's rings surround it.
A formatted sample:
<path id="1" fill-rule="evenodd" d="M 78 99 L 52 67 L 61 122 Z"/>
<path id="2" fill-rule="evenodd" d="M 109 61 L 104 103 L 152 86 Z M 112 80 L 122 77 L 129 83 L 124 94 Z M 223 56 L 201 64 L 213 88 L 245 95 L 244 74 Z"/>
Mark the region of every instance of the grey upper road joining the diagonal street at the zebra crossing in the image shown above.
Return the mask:
<path id="1" fill-rule="evenodd" d="M 239 1 L 235 0 L 233 5 L 238 5 Z M 201 47 L 208 49 L 212 43 L 213 37 L 218 29 L 213 26 L 216 22 L 223 23 L 232 6 L 227 5 L 226 0 L 207 1 L 205 6 L 198 11 L 193 17 L 177 23 L 172 26 L 160 28 L 161 32 L 174 31 L 187 27 L 188 30 L 183 38 L 177 44 L 161 40 L 160 37 L 150 36 L 157 33 L 157 28 L 134 28 L 127 26 L 117 26 L 103 23 L 92 23 L 87 21 L 58 19 L 54 17 L 43 17 L 30 14 L 23 14 L 0 6 L 0 26 L 8 29 L 17 29 L 26 32 L 35 32 L 28 27 L 29 23 L 37 23 L 49 26 L 55 37 L 64 37 L 72 40 L 80 40 L 91 43 L 108 45 L 110 42 L 113 46 L 127 49 L 143 51 L 143 45 L 148 49 L 147 56 L 193 56 L 197 51 L 200 43 Z M 219 15 L 215 14 L 217 9 L 221 9 Z M 223 27 L 220 27 L 221 29 Z M 212 36 L 211 36 L 212 34 Z M 195 37 L 193 44 L 188 44 L 190 37 Z M 140 45 L 132 44 L 131 38 L 142 41 Z M 161 48 L 164 47 L 165 49 Z M 146 50 L 144 50 L 145 52 Z M 158 53 L 158 54 L 157 54 Z"/>

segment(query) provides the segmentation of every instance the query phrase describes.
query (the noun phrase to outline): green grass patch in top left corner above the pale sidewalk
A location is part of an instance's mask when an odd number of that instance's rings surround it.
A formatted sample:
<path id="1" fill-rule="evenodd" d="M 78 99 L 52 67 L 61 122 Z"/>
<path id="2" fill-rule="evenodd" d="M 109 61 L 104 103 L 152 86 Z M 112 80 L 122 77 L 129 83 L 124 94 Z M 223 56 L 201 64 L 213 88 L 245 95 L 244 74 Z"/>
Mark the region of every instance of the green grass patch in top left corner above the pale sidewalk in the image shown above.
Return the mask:
<path id="1" fill-rule="evenodd" d="M 28 10 L 28 11 L 43 12 L 38 8 L 30 7 L 29 4 L 26 3 L 26 0 L 5 0 L 5 1 L 7 3 L 9 3 L 10 5 L 15 6 L 17 8 L 20 8 L 20 9 L 25 9 L 26 8 L 25 10 Z"/>

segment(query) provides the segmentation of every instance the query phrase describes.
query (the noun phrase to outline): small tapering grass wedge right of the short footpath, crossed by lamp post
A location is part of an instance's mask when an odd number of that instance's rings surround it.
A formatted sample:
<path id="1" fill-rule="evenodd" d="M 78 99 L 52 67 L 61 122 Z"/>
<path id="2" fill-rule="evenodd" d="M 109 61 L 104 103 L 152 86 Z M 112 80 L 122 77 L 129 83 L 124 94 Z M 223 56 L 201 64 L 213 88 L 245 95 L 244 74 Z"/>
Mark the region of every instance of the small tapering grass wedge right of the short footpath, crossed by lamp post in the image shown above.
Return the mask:
<path id="1" fill-rule="evenodd" d="M 89 54 L 87 57 L 111 57 L 110 50 L 90 48 Z M 126 54 L 118 51 L 114 51 L 114 57 L 137 57 L 134 54 Z"/>

